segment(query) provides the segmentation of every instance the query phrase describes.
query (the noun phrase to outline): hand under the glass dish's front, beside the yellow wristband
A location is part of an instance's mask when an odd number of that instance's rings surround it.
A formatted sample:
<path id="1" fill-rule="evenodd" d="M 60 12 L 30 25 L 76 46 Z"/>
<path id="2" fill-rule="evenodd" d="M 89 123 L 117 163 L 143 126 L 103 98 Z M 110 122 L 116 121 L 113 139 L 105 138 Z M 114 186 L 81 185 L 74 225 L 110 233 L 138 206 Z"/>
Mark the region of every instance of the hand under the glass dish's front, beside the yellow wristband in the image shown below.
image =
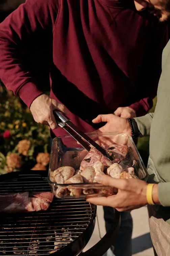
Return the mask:
<path id="1" fill-rule="evenodd" d="M 97 175 L 95 181 L 106 186 L 115 187 L 118 192 L 116 195 L 91 197 L 86 200 L 92 204 L 110 206 L 120 212 L 137 209 L 147 204 L 147 183 L 145 181 L 139 179 L 114 179 L 107 175 Z M 157 186 L 155 184 L 153 189 L 158 191 Z"/>

